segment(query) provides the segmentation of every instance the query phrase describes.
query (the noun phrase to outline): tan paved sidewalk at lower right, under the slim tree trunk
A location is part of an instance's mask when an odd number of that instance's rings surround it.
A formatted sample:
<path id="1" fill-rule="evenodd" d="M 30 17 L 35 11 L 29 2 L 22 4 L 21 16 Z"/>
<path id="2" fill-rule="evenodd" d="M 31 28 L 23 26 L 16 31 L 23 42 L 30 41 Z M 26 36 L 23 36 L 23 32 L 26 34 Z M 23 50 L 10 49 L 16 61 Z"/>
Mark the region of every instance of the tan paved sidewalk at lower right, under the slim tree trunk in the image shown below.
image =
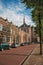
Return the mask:
<path id="1" fill-rule="evenodd" d="M 43 49 L 43 44 L 42 44 Z M 43 50 L 42 50 L 43 53 Z M 32 54 L 28 57 L 23 65 L 43 65 L 43 54 L 40 55 L 40 45 L 38 44 L 37 47 L 34 49 Z"/>

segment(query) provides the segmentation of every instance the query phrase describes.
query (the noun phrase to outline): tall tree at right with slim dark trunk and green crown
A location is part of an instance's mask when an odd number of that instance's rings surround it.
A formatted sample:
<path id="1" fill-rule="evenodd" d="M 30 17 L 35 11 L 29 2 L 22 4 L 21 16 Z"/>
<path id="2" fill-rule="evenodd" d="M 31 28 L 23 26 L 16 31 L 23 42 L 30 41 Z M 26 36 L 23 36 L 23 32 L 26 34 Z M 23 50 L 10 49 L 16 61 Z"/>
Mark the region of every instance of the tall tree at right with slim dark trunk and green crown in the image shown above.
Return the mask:
<path id="1" fill-rule="evenodd" d="M 35 21 L 40 36 L 40 54 L 42 54 L 41 44 L 41 22 L 43 21 L 43 1 L 42 0 L 21 0 L 27 8 L 32 9 L 32 19 Z M 42 25 L 43 26 L 43 25 Z"/>

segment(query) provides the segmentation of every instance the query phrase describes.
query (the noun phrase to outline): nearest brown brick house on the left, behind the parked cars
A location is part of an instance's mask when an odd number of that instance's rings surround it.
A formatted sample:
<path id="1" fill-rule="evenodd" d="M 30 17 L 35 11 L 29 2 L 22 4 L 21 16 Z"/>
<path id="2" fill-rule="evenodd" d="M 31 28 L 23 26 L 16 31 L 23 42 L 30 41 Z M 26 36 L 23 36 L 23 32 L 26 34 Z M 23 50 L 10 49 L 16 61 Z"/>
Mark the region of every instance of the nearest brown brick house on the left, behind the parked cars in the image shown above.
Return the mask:
<path id="1" fill-rule="evenodd" d="M 0 31 L 2 42 L 13 43 L 15 41 L 15 36 L 18 28 L 13 25 L 11 22 L 8 22 L 7 19 L 0 17 L 0 25 L 2 25 L 2 31 Z"/>

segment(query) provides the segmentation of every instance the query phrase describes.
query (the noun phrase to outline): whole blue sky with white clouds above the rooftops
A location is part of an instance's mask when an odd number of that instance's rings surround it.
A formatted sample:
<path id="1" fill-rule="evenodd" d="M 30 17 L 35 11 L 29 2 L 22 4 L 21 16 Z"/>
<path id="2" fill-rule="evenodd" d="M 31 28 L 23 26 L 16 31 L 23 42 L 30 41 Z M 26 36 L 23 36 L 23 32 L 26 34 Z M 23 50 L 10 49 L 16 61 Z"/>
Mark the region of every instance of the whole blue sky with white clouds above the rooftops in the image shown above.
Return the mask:
<path id="1" fill-rule="evenodd" d="M 31 9 L 27 9 L 20 0 L 0 0 L 0 17 L 8 19 L 14 25 L 23 24 L 23 18 L 28 25 L 34 25 L 31 17 Z"/>

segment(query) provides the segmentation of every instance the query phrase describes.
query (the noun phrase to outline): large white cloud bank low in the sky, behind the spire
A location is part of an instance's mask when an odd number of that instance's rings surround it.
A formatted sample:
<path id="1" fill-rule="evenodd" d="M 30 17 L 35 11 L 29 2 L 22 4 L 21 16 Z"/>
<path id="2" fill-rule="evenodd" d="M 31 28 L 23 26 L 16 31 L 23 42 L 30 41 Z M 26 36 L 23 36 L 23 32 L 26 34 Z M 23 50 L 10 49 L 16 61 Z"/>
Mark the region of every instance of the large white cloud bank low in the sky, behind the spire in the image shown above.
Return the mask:
<path id="1" fill-rule="evenodd" d="M 17 12 L 23 11 L 24 9 L 25 7 L 22 8 L 20 6 L 20 3 L 19 3 L 19 7 L 15 6 L 15 8 L 14 5 L 11 4 L 9 5 L 8 8 L 3 7 L 1 4 L 0 10 L 2 10 L 3 13 L 1 13 L 0 16 L 3 18 L 7 18 L 10 22 L 12 21 L 13 24 L 20 26 L 23 23 L 24 14 L 18 14 Z M 25 21 L 27 24 L 31 24 L 31 25 L 33 24 L 31 18 L 28 15 L 25 15 Z"/>

